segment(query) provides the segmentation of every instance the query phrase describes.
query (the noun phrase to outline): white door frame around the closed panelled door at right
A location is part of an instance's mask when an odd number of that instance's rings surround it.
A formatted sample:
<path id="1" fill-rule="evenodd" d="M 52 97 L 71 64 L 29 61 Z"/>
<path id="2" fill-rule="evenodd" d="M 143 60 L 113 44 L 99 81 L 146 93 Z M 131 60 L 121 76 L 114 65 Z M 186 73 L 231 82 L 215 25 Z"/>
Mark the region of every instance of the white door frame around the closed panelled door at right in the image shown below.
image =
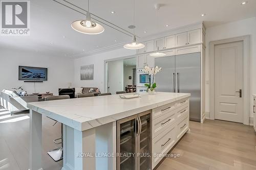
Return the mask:
<path id="1" fill-rule="evenodd" d="M 210 119 L 215 119 L 215 45 L 238 41 L 243 41 L 243 124 L 249 125 L 249 35 L 209 42 Z"/>

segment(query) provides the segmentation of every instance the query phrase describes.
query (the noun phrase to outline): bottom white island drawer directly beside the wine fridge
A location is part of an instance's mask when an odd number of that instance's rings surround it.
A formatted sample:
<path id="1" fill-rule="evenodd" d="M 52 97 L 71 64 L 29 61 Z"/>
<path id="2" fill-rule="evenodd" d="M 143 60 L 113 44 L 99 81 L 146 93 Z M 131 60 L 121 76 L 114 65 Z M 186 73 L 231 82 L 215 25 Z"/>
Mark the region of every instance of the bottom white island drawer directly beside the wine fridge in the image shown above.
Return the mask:
<path id="1" fill-rule="evenodd" d="M 176 124 L 168 127 L 165 131 L 159 134 L 152 140 L 152 168 L 167 154 L 175 144 L 176 139 Z"/>

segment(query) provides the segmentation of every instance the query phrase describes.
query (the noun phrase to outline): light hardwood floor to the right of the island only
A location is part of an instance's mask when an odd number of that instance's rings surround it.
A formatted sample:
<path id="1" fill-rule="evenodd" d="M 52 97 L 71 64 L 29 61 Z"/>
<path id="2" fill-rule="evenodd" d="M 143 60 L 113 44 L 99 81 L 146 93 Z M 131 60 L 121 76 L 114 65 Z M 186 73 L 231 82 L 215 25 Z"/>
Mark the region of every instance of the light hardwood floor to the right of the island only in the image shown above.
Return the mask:
<path id="1" fill-rule="evenodd" d="M 190 122 L 186 134 L 157 170 L 229 170 L 256 169 L 256 135 L 252 127 L 222 120 Z"/>

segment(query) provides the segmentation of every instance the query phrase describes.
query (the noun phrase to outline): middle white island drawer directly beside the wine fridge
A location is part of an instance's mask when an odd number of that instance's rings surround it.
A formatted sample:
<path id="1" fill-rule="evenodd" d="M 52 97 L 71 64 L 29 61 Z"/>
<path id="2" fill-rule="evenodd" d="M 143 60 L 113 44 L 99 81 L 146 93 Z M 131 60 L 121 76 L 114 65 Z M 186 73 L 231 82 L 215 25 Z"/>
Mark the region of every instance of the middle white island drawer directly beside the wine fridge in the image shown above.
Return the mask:
<path id="1" fill-rule="evenodd" d="M 156 137 L 175 123 L 176 111 L 168 112 L 152 121 L 152 137 Z"/>

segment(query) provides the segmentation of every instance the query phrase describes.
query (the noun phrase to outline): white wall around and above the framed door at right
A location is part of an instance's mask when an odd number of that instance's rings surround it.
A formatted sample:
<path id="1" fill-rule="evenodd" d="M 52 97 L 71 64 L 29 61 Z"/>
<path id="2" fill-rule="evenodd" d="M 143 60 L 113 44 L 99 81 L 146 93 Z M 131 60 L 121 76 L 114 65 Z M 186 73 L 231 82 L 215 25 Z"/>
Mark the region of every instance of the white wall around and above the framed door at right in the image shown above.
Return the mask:
<path id="1" fill-rule="evenodd" d="M 253 98 L 251 94 L 256 93 L 256 17 L 229 22 L 220 26 L 206 29 L 206 81 L 209 81 L 209 42 L 244 35 L 250 35 L 249 101 L 250 117 L 252 117 Z M 209 113 L 209 105 L 209 84 L 206 84 L 206 113 Z"/>

